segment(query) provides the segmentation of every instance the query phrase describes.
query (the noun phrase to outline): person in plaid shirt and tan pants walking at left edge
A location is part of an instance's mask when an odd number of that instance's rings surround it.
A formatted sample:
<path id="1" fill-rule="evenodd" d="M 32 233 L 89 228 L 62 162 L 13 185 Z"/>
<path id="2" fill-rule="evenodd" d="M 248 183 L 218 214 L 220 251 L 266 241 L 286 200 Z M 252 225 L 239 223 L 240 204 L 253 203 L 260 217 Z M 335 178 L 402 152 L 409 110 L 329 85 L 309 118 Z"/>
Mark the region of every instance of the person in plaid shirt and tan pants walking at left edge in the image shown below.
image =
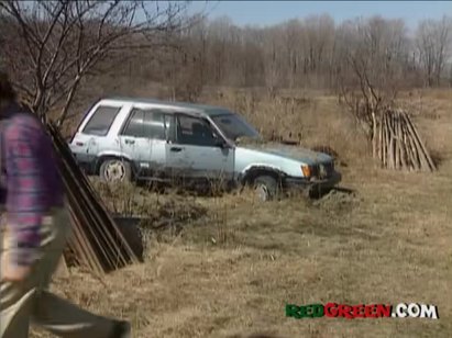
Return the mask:
<path id="1" fill-rule="evenodd" d="M 70 235 L 51 138 L 0 72 L 0 338 L 30 323 L 59 337 L 126 338 L 128 322 L 93 315 L 47 289 Z"/>

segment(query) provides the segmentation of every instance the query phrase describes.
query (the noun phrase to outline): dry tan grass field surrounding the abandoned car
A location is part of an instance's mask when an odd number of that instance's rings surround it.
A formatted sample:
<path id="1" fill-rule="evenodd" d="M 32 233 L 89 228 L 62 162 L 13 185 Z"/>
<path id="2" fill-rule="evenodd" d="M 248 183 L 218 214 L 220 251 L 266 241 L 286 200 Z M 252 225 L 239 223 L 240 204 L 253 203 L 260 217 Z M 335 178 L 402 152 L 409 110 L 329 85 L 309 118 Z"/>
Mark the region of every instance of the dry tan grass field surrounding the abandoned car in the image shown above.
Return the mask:
<path id="1" fill-rule="evenodd" d="M 110 206 L 115 199 L 121 212 L 174 222 L 145 230 L 144 263 L 102 280 L 74 268 L 52 288 L 93 312 L 130 319 L 142 338 L 450 337 L 452 91 L 403 98 L 440 159 L 436 173 L 376 168 L 332 95 L 301 93 L 294 104 L 260 98 L 205 101 L 244 113 L 263 133 L 301 133 L 307 146 L 331 146 L 346 164 L 339 167 L 341 187 L 354 193 L 262 204 L 246 192 L 206 198 L 117 188 L 113 196 L 102 193 Z M 286 303 L 328 302 L 434 304 L 440 319 L 285 317 Z"/>

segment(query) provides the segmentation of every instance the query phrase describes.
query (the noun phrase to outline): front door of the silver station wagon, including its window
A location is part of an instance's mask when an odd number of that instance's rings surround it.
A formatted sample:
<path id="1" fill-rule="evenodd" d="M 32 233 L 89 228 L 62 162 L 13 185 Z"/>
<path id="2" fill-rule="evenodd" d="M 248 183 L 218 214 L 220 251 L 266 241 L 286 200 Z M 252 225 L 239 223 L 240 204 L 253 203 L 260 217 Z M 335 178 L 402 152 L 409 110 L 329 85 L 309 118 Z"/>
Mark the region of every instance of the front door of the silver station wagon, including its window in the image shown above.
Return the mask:
<path id="1" fill-rule="evenodd" d="M 167 145 L 167 161 L 174 176 L 189 179 L 230 180 L 234 169 L 234 149 L 206 119 L 175 114 L 175 137 Z"/>

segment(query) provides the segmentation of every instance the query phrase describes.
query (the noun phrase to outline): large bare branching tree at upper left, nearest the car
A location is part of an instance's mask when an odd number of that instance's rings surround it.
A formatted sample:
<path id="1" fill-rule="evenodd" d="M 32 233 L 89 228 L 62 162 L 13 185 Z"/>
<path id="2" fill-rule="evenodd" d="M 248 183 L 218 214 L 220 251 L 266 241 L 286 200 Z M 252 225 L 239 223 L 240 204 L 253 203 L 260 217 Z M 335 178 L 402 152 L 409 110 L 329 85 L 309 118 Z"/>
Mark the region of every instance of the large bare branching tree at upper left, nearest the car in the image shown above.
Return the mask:
<path id="1" fill-rule="evenodd" d="M 1 56 L 23 101 L 43 120 L 59 106 L 62 124 L 87 74 L 165 44 L 186 23 L 187 8 L 186 1 L 1 1 Z"/>

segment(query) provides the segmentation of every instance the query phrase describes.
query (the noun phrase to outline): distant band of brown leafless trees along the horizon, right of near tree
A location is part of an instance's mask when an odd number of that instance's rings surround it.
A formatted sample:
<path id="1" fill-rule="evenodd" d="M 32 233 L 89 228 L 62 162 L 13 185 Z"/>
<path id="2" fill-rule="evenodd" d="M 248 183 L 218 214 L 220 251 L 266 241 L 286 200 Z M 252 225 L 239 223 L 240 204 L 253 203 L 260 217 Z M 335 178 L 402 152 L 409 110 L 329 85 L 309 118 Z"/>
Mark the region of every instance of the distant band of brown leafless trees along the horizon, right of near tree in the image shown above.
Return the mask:
<path id="1" fill-rule="evenodd" d="M 152 58 L 146 52 L 140 61 L 131 59 L 128 70 L 192 90 L 205 84 L 334 89 L 352 84 L 363 71 L 374 86 L 452 86 L 451 18 L 420 22 L 415 33 L 403 20 L 379 16 L 335 24 L 321 15 L 264 29 L 238 27 L 227 18 L 205 20 L 178 35 L 178 48 Z"/>

